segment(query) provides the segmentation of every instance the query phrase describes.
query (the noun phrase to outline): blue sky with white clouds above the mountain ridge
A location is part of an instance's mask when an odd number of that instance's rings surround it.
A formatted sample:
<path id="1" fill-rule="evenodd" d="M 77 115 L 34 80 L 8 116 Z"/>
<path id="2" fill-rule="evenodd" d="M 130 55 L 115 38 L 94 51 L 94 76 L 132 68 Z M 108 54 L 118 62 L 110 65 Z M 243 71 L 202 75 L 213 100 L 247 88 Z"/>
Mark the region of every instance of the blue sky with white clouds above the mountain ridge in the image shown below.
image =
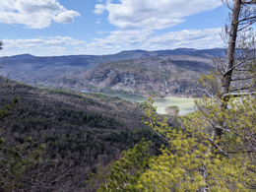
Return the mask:
<path id="1" fill-rule="evenodd" d="M 223 47 L 222 0 L 1 0 L 0 56 Z"/>

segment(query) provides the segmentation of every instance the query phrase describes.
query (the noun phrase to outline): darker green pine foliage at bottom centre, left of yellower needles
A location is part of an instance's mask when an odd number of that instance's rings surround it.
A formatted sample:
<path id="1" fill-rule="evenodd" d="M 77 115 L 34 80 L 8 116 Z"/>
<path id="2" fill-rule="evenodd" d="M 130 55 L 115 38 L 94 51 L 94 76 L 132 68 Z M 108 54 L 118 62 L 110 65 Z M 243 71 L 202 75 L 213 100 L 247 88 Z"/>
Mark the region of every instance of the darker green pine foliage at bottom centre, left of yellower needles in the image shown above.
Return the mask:
<path id="1" fill-rule="evenodd" d="M 97 191 L 138 191 L 137 181 L 154 159 L 149 153 L 150 145 L 151 142 L 142 139 L 133 149 L 117 156 L 110 166 L 98 169 L 96 174 L 91 173 L 87 182 L 96 186 L 95 181 L 101 181 Z"/>

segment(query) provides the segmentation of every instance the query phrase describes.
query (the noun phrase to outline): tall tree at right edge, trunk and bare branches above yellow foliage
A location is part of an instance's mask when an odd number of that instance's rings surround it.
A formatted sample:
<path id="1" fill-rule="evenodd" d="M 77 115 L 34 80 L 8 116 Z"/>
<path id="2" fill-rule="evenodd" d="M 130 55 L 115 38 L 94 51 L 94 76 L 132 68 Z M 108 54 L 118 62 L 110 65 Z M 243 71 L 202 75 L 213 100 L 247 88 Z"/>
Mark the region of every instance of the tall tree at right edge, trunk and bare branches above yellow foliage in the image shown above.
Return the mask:
<path id="1" fill-rule="evenodd" d="M 226 109 L 231 97 L 255 94 L 256 43 L 252 26 L 256 22 L 256 0 L 222 1 L 231 11 L 221 33 L 226 43 L 225 57 L 215 57 L 218 71 L 203 78 L 208 96 L 219 99 L 220 107 Z M 224 121 L 215 127 L 215 138 L 221 139 Z"/>

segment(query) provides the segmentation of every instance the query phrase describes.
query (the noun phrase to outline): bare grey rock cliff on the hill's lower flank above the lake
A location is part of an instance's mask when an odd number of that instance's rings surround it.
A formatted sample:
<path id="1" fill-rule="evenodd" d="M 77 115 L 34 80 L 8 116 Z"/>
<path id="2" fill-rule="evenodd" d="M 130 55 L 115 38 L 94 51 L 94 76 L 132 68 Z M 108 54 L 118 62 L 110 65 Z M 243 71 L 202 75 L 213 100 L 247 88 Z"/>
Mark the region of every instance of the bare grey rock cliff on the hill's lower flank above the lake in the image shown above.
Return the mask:
<path id="1" fill-rule="evenodd" d="M 119 70 L 104 70 L 90 77 L 90 85 L 96 86 L 97 91 L 110 88 L 113 91 L 125 91 L 140 96 L 194 96 L 202 90 L 197 81 L 164 80 L 164 78 L 143 77 L 139 74 Z"/>

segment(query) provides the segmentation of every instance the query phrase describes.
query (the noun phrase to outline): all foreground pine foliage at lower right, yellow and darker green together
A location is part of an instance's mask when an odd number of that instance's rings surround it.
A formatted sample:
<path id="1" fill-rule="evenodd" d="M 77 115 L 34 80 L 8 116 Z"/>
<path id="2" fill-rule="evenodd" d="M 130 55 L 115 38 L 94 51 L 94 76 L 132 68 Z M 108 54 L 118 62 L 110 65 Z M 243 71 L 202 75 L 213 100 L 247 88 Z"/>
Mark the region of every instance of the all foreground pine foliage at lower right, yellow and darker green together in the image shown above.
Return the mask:
<path id="1" fill-rule="evenodd" d="M 222 108 L 223 102 L 228 107 Z M 193 114 L 177 116 L 179 129 L 170 127 L 153 103 L 152 98 L 144 103 L 143 122 L 167 147 L 150 158 L 143 156 L 148 148 L 143 141 L 110 165 L 98 191 L 255 191 L 256 157 L 250 152 L 255 149 L 255 98 L 198 98 Z M 222 138 L 214 134 L 217 127 Z"/>

